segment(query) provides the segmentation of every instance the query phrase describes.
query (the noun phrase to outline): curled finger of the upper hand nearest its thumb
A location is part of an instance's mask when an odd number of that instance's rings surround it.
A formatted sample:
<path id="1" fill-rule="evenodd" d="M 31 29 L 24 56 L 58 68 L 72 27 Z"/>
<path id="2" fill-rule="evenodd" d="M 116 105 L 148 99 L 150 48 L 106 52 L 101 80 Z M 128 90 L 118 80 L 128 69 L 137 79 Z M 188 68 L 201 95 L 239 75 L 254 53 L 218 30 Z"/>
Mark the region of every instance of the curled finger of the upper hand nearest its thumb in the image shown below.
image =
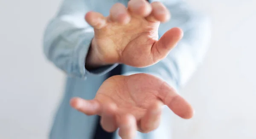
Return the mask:
<path id="1" fill-rule="evenodd" d="M 166 22 L 170 19 L 171 14 L 166 7 L 160 3 L 160 2 L 153 2 L 151 3 L 152 12 L 151 14 L 146 18 L 149 21 L 152 22 Z"/>

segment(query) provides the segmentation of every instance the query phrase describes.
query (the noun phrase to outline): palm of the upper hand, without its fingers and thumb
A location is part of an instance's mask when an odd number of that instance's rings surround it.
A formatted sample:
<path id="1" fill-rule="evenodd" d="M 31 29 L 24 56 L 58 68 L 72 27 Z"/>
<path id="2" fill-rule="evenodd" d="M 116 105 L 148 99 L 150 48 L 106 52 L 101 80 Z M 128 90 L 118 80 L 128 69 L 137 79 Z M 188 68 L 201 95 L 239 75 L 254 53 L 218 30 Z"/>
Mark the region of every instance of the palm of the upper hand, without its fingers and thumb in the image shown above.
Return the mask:
<path id="1" fill-rule="evenodd" d="M 160 22 L 150 22 L 143 17 L 131 17 L 128 24 L 108 23 L 103 29 L 95 29 L 95 43 L 98 51 L 118 63 L 134 67 L 154 64 L 151 47 L 158 40 Z M 108 61 L 111 62 L 111 61 Z"/>

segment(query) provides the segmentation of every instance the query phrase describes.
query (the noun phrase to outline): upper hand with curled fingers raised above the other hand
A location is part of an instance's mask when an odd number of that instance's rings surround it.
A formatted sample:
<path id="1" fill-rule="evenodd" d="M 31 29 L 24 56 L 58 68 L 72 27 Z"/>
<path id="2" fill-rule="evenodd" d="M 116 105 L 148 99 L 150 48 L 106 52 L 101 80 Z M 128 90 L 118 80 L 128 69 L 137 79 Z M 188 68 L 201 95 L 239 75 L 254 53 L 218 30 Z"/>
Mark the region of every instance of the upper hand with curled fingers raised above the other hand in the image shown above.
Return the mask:
<path id="1" fill-rule="evenodd" d="M 179 28 L 167 31 L 158 41 L 160 22 L 169 20 L 170 13 L 160 2 L 130 0 L 128 8 L 116 3 L 110 15 L 88 12 L 85 20 L 94 28 L 95 36 L 86 64 L 123 63 L 147 67 L 168 55 L 182 38 Z"/>

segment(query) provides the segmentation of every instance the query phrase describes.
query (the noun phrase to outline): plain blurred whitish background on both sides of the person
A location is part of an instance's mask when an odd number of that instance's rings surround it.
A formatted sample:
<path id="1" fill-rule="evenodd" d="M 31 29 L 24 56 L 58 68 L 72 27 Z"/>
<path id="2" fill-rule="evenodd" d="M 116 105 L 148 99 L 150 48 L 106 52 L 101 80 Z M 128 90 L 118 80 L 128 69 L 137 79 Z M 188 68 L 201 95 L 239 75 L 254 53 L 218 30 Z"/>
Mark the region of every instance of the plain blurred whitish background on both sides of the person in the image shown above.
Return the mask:
<path id="1" fill-rule="evenodd" d="M 0 0 L 0 139 L 47 139 L 65 75 L 42 51 L 61 0 Z M 256 139 L 256 0 L 187 0 L 212 18 L 210 49 L 181 94 L 173 139 Z"/>

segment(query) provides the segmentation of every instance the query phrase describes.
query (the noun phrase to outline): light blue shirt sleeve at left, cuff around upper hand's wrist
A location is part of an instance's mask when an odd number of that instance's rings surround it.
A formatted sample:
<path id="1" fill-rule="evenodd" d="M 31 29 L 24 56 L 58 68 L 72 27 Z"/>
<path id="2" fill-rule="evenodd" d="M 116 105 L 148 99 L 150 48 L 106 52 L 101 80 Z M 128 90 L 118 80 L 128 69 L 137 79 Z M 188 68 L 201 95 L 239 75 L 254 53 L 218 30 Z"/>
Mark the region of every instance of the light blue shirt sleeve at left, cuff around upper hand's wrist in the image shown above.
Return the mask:
<path id="1" fill-rule="evenodd" d="M 93 28 L 84 20 L 89 7 L 90 0 L 64 0 L 44 33 L 46 57 L 68 75 L 83 79 L 87 74 L 105 74 L 117 65 L 90 71 L 85 68 L 86 56 L 94 37 Z"/>

